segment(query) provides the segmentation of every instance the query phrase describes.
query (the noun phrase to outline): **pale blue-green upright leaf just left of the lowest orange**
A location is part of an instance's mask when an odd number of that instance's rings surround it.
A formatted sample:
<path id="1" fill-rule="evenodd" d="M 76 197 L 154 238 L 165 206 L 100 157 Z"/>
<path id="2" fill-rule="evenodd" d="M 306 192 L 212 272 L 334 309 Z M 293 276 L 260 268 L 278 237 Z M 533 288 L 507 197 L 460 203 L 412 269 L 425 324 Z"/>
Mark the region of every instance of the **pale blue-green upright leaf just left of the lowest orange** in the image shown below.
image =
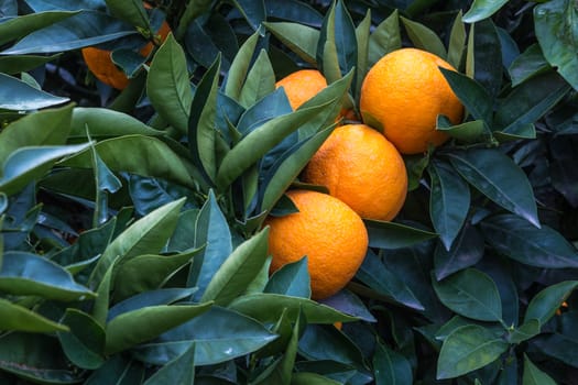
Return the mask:
<path id="1" fill-rule="evenodd" d="M 200 208 L 194 232 L 195 246 L 205 249 L 195 257 L 187 277 L 188 287 L 197 287 L 194 300 L 200 300 L 207 286 L 233 251 L 231 231 L 212 190 Z"/>

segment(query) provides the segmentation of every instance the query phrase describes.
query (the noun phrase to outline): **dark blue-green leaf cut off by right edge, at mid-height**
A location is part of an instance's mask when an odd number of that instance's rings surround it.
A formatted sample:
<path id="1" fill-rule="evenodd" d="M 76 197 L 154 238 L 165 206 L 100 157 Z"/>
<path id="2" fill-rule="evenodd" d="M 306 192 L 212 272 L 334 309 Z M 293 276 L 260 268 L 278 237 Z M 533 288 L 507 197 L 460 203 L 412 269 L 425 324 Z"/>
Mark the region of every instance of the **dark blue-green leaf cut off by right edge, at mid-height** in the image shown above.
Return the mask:
<path id="1" fill-rule="evenodd" d="M 526 265 L 544 268 L 578 266 L 578 252 L 559 232 L 543 226 L 500 215 L 481 222 L 486 241 L 499 253 Z"/>

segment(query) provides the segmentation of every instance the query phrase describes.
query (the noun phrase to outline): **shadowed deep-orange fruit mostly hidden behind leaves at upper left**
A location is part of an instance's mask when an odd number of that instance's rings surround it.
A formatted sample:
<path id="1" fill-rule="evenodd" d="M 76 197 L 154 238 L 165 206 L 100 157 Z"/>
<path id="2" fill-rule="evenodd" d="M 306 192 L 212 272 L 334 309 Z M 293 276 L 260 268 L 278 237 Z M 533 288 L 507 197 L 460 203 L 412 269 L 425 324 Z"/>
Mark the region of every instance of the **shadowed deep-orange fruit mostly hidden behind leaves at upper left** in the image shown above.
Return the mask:
<path id="1" fill-rule="evenodd" d="M 148 3 L 144 3 L 144 8 L 151 8 Z M 163 42 L 168 33 L 171 28 L 166 22 L 163 22 L 159 31 L 156 32 L 161 42 Z M 153 51 L 154 44 L 152 42 L 148 43 L 140 51 L 140 54 L 149 56 Z M 124 89 L 129 85 L 129 78 L 127 75 L 119 69 L 114 62 L 111 58 L 111 52 L 107 50 L 100 50 L 96 47 L 85 47 L 81 50 L 83 57 L 85 59 L 86 66 L 95 75 L 97 79 L 109 85 L 116 89 Z"/>

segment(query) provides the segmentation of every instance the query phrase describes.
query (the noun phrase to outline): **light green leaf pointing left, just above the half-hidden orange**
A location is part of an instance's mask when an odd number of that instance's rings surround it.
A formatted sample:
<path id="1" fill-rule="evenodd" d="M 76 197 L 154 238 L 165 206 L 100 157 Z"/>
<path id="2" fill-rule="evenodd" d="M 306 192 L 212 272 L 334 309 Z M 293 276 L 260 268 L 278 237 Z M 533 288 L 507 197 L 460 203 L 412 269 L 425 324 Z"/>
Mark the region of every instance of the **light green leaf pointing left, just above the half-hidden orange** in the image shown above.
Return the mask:
<path id="1" fill-rule="evenodd" d="M 263 25 L 306 63 L 312 66 L 317 65 L 315 55 L 319 41 L 319 30 L 290 22 L 263 22 Z"/>

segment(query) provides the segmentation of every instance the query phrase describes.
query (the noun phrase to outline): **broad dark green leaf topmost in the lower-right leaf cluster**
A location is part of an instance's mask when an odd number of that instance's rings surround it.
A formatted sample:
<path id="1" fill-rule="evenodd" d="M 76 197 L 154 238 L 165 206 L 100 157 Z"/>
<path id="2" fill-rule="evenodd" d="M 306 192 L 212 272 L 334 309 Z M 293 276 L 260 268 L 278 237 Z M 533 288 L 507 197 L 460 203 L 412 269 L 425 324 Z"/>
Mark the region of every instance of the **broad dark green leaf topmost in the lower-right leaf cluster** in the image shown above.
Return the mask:
<path id="1" fill-rule="evenodd" d="M 493 279 L 476 268 L 466 268 L 437 282 L 439 300 L 448 308 L 479 321 L 501 321 L 502 300 Z"/>

